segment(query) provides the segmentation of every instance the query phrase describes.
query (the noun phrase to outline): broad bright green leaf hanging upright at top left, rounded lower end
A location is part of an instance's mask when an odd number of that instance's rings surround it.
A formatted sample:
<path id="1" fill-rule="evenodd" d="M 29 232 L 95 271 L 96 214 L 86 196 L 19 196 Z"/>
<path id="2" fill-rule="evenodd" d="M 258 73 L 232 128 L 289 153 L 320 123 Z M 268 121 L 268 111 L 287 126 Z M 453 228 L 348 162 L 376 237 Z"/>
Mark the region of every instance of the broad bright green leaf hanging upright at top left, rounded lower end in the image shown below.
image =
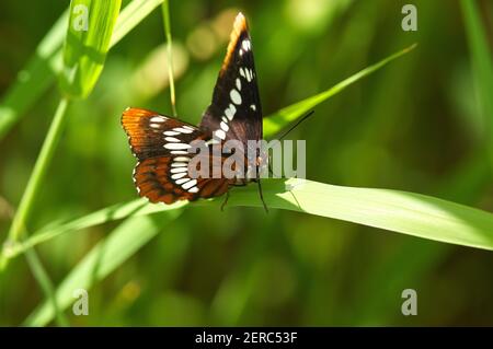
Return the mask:
<path id="1" fill-rule="evenodd" d="M 72 0 L 64 45 L 60 88 L 71 97 L 87 97 L 104 66 L 122 0 Z"/>

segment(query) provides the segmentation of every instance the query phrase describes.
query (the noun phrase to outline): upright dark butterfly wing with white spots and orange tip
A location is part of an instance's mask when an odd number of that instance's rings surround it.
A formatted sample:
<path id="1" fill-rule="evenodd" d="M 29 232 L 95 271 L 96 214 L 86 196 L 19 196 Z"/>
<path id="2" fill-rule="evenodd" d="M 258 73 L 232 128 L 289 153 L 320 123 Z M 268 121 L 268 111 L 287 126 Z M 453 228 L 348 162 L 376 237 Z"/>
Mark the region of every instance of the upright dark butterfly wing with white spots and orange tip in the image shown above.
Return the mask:
<path id="1" fill-rule="evenodd" d="M 252 40 L 241 13 L 234 21 L 213 102 L 203 116 L 200 129 L 217 140 L 240 140 L 245 149 L 246 140 L 262 138 L 262 107 Z"/>

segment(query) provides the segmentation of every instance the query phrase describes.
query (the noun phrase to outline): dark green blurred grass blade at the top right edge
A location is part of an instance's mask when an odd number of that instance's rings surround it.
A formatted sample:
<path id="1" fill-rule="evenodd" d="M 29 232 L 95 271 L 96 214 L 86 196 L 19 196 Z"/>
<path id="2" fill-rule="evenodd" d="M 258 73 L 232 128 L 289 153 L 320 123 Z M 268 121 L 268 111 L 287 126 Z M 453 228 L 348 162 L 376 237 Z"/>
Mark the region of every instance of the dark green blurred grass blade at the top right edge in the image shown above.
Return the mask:
<path id="1" fill-rule="evenodd" d="M 472 73 L 480 109 L 483 114 L 485 135 L 493 155 L 493 57 L 481 23 L 477 2 L 462 0 L 462 12 L 472 60 Z M 493 158 L 491 159 L 493 161 Z M 492 162 L 493 163 L 493 162 Z"/>

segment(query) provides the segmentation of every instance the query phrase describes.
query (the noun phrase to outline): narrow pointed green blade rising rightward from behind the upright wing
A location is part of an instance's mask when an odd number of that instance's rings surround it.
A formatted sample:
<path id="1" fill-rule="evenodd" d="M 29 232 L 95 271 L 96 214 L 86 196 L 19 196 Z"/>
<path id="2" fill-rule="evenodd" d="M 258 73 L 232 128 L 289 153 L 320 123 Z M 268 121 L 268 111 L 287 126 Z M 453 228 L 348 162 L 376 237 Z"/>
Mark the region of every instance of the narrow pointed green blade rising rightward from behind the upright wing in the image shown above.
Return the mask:
<path id="1" fill-rule="evenodd" d="M 354 75 L 341 81 L 340 83 L 337 83 L 336 85 L 332 86 L 331 89 L 329 89 L 324 92 L 321 92 L 314 96 L 311 96 L 303 101 L 295 103 L 290 106 L 287 106 L 280 110 L 278 110 L 277 113 L 274 113 L 274 114 L 265 117 L 264 118 L 264 138 L 267 139 L 267 138 L 274 137 L 284 127 L 286 127 L 290 123 L 295 121 L 297 118 L 299 118 L 307 112 L 311 110 L 318 104 L 320 104 L 320 103 L 326 101 L 328 98 L 332 97 L 333 95 L 342 92 L 344 89 L 346 89 L 347 86 L 357 82 L 358 80 L 362 80 L 363 78 L 379 70 L 383 66 L 390 63 L 392 60 L 408 54 L 415 47 L 416 47 L 416 44 L 411 45 L 410 47 L 404 48 L 404 49 L 380 60 L 379 62 L 358 71 Z"/>

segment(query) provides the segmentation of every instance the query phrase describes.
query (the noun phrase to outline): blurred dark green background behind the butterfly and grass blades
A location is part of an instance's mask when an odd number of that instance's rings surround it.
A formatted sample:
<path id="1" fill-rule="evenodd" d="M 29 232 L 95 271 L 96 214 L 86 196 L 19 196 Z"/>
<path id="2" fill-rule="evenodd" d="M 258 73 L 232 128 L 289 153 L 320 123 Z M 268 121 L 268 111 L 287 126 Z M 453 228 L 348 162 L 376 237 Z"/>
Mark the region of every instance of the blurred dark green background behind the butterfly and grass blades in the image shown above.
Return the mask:
<path id="1" fill-rule="evenodd" d="M 289 137 L 307 140 L 310 179 L 492 211 L 485 125 L 461 8 L 412 1 L 419 31 L 403 32 L 401 8 L 410 2 L 172 0 L 179 115 L 199 123 L 239 10 L 250 22 L 266 115 L 417 42 L 411 54 L 319 105 Z M 1 94 L 68 4 L 33 1 L 27 10 L 2 1 Z M 493 3 L 478 5 L 492 44 Z M 129 105 L 171 114 L 163 44 L 157 9 L 111 50 L 91 96 L 70 105 L 32 226 L 137 197 L 119 117 Z M 0 141 L 2 242 L 58 100 L 53 86 Z M 54 283 L 116 225 L 39 245 Z M 493 325 L 491 252 L 253 208 L 191 205 L 160 230 L 89 291 L 88 316 L 66 311 L 71 325 Z M 417 291 L 417 316 L 401 314 L 409 288 Z M 0 325 L 21 324 L 43 299 L 25 258 L 14 259 L 0 284 Z"/>

